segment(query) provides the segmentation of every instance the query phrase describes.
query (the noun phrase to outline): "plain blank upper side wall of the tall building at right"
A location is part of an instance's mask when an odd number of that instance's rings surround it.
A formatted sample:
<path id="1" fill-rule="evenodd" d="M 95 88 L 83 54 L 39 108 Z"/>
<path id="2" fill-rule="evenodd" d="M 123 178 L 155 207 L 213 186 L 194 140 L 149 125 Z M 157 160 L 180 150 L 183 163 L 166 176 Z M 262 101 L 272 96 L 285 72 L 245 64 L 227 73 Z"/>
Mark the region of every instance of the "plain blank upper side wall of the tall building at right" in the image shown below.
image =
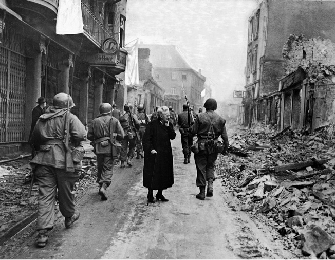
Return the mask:
<path id="1" fill-rule="evenodd" d="M 335 42 L 334 1 L 268 0 L 266 60 L 282 60 L 281 49 L 290 34 Z"/>

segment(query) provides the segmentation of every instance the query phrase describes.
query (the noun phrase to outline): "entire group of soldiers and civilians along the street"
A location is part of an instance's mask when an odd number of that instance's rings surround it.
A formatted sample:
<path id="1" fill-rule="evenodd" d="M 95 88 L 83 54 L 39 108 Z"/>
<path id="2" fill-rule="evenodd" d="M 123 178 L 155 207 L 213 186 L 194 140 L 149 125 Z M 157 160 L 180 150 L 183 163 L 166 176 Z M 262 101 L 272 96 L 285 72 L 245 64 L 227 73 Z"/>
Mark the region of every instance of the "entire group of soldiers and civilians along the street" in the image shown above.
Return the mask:
<path id="1" fill-rule="evenodd" d="M 218 153 L 227 154 L 228 151 L 226 120 L 214 112 L 217 108 L 214 99 L 208 99 L 204 103 L 206 112 L 199 109 L 198 114 L 191 111 L 187 98 L 186 101 L 178 116 L 172 107 L 157 106 L 151 118 L 142 104 L 137 106 L 137 114 L 134 114 L 132 105 L 127 103 L 121 114 L 115 104 L 112 107 L 109 103 L 102 103 L 100 115 L 92 120 L 87 129 L 70 113 L 75 106 L 70 95 L 55 95 L 52 106 L 47 109 L 45 99 L 39 98 L 38 106 L 32 113 L 34 118 L 29 137 L 33 150 L 30 164 L 39 184 L 37 246 L 45 247 L 48 231 L 53 228 L 57 189 L 65 227 L 72 227 L 79 218 L 79 211 L 73 202 L 73 187 L 85 153 L 81 141 L 86 138 L 91 141 L 97 156 L 96 182 L 101 200 L 108 199 L 106 190 L 111 183 L 115 159 L 120 159 L 120 168 L 125 168 L 125 165 L 131 167 L 136 153 L 136 159 L 144 158 L 143 186 L 148 189 L 147 203 L 169 201 L 162 192 L 174 183 L 171 140 L 176 137 L 176 127 L 180 127 L 184 164 L 190 163 L 193 137 L 197 136 L 196 151 L 192 150 L 197 169 L 196 185 L 200 189 L 196 197 L 204 200 L 206 196 L 213 196 L 215 160 Z M 216 148 L 220 146 L 220 137 L 224 143 L 223 151 Z M 157 190 L 156 200 L 154 190 Z"/>

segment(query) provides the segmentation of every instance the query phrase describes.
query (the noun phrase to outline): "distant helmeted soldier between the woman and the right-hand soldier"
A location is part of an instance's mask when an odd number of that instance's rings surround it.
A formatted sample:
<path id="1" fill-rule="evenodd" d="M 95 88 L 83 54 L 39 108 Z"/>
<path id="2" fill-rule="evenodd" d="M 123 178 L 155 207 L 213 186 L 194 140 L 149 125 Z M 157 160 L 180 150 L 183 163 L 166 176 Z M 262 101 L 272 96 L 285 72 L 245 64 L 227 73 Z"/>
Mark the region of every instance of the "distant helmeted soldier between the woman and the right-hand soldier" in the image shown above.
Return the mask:
<path id="1" fill-rule="evenodd" d="M 193 144 L 193 135 L 189 131 L 192 120 L 189 119 L 188 105 L 185 102 L 182 105 L 182 112 L 178 115 L 179 132 L 181 134 L 181 147 L 184 154 L 184 164 L 191 162 L 191 146 Z"/>

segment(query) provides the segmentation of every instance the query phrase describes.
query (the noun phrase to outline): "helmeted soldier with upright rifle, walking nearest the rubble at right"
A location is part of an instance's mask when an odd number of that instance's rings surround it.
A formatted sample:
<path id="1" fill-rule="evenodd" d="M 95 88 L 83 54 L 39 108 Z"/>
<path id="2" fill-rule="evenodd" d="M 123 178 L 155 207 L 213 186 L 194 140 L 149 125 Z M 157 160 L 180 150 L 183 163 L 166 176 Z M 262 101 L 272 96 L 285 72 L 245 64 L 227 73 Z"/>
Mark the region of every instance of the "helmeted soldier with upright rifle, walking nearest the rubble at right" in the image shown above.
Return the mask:
<path id="1" fill-rule="evenodd" d="M 206 112 L 197 114 L 194 124 L 190 127 L 192 135 L 197 135 L 199 143 L 199 152 L 194 155 L 195 165 L 197 168 L 196 184 L 200 193 L 196 198 L 205 199 L 206 181 L 207 197 L 213 196 L 213 181 L 215 180 L 214 165 L 218 155 L 217 142 L 221 137 L 225 146 L 222 154 L 228 154 L 228 135 L 226 131 L 226 120 L 214 112 L 217 108 L 215 99 L 209 98 L 203 105 Z M 200 145 L 201 144 L 201 145 Z"/>

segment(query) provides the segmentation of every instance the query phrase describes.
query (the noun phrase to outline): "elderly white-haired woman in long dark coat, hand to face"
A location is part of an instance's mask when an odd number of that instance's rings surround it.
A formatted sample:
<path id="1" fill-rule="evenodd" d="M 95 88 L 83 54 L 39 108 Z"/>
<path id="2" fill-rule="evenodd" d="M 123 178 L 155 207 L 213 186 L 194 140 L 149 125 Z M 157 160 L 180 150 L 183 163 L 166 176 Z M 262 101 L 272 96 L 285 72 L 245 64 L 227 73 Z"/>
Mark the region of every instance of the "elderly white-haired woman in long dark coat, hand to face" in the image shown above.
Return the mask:
<path id="1" fill-rule="evenodd" d="M 169 122 L 169 108 L 162 106 L 158 108 L 157 114 L 158 118 L 146 126 L 143 136 L 143 186 L 148 188 L 147 198 L 151 203 L 155 203 L 153 190 L 158 190 L 157 200 L 169 201 L 163 196 L 163 190 L 172 187 L 174 183 L 170 140 L 175 139 L 176 133 Z"/>

